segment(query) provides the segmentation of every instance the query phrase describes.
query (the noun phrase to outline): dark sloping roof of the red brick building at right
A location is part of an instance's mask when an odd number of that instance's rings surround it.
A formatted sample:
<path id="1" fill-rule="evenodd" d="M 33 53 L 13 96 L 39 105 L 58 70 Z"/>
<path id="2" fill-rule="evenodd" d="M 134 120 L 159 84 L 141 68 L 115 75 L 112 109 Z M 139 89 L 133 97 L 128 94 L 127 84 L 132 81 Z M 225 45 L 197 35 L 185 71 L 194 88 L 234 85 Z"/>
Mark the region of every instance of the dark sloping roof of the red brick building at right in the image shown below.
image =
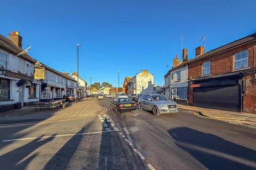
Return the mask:
<path id="1" fill-rule="evenodd" d="M 230 49 L 230 48 L 233 48 L 233 47 L 236 47 L 238 45 L 245 44 L 245 43 L 249 43 L 249 42 L 254 41 L 254 40 L 256 40 L 256 33 L 253 33 L 252 35 L 243 37 L 243 38 L 238 39 L 236 41 L 233 41 L 229 44 L 226 44 L 226 45 L 223 45 L 221 47 L 210 50 L 209 52 L 198 55 L 195 58 L 192 58 L 191 60 L 189 60 L 189 63 L 200 60 L 200 59 L 205 58 L 205 57 L 210 57 L 210 56 L 212 56 L 214 54 L 217 54 L 217 53 L 220 53 L 224 50 L 227 50 L 227 49 Z"/>

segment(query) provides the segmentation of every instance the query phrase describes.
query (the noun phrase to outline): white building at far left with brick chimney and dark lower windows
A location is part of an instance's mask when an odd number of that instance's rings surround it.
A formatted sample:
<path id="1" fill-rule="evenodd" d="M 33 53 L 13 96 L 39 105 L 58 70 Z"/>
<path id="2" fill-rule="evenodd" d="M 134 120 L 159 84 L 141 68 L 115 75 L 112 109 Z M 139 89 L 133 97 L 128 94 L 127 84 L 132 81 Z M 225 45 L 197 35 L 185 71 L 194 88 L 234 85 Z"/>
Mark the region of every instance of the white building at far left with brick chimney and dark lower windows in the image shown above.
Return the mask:
<path id="1" fill-rule="evenodd" d="M 41 83 L 34 79 L 35 60 L 22 51 L 19 32 L 13 31 L 9 38 L 0 35 L 0 112 L 39 100 Z"/>

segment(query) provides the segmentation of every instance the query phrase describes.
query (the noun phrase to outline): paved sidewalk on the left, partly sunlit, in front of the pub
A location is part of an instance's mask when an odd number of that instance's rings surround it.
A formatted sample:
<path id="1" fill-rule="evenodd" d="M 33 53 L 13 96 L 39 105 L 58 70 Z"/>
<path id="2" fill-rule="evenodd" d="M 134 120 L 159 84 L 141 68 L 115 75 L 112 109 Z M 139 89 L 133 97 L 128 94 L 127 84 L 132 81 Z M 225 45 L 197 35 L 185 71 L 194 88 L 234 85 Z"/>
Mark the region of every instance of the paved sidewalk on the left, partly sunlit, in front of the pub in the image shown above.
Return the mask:
<path id="1" fill-rule="evenodd" d="M 24 106 L 21 109 L 0 113 L 0 124 L 3 122 L 15 122 L 21 120 L 56 121 L 69 118 L 98 114 L 103 108 L 95 99 L 85 98 L 78 103 L 72 103 L 67 108 L 42 109 L 35 112 L 34 106 Z"/>

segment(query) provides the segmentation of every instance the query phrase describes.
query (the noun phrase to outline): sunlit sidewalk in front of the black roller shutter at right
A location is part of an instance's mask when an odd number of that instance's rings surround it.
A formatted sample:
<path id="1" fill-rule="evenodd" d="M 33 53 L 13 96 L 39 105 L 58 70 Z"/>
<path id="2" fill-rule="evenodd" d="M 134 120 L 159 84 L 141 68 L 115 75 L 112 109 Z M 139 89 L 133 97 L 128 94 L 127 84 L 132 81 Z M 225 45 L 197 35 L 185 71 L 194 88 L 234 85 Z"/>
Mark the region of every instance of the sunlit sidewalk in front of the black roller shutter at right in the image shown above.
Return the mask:
<path id="1" fill-rule="evenodd" d="M 212 108 L 202 108 L 195 106 L 179 105 L 180 109 L 186 109 L 196 112 L 199 117 L 214 118 L 229 123 L 241 124 L 256 128 L 256 114 L 247 114 L 240 112 L 223 111 Z"/>

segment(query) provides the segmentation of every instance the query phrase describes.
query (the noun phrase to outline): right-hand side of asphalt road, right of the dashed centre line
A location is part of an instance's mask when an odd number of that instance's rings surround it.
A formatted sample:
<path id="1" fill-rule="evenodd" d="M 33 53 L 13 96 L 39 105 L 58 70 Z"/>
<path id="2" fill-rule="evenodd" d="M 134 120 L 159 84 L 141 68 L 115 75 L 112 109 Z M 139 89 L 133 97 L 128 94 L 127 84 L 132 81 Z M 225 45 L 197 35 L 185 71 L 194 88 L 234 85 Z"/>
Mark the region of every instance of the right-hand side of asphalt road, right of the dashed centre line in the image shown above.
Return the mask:
<path id="1" fill-rule="evenodd" d="M 99 100 L 109 108 L 111 99 Z M 109 116 L 155 169 L 256 169 L 256 131 L 180 110 Z"/>

